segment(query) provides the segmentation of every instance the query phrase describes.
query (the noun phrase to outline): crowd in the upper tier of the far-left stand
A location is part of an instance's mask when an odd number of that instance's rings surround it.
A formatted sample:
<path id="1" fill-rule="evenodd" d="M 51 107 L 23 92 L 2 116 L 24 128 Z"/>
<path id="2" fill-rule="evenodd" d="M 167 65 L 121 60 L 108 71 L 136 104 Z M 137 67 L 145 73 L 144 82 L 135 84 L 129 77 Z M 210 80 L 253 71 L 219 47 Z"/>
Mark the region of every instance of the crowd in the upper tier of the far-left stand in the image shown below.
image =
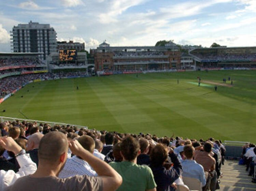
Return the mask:
<path id="1" fill-rule="evenodd" d="M 0 58 L 0 67 L 38 65 L 38 64 L 40 64 L 40 61 L 38 58 Z"/>

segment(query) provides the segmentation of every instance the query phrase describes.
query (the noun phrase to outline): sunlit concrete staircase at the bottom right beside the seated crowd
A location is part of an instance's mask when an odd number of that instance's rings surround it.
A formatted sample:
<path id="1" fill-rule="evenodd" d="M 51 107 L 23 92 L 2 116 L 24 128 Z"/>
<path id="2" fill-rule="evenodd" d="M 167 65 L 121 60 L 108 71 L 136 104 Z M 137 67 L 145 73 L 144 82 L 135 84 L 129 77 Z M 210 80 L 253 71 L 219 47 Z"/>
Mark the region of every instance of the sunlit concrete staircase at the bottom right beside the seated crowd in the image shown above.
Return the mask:
<path id="1" fill-rule="evenodd" d="M 251 191 L 256 190 L 256 184 L 252 183 L 252 177 L 248 176 L 244 165 L 239 165 L 237 160 L 227 160 L 221 167 L 223 177 L 219 184 L 221 191 Z"/>

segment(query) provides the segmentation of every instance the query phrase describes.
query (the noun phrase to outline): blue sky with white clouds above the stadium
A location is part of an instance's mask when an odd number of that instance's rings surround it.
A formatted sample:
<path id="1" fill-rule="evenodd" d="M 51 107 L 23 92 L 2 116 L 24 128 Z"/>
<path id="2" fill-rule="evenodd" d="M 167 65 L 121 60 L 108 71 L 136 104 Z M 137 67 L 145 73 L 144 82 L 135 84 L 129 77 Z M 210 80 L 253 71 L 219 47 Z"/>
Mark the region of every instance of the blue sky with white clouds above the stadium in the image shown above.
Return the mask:
<path id="1" fill-rule="evenodd" d="M 0 52 L 10 31 L 30 20 L 50 24 L 57 40 L 96 48 L 180 45 L 256 46 L 256 0 L 0 0 Z"/>

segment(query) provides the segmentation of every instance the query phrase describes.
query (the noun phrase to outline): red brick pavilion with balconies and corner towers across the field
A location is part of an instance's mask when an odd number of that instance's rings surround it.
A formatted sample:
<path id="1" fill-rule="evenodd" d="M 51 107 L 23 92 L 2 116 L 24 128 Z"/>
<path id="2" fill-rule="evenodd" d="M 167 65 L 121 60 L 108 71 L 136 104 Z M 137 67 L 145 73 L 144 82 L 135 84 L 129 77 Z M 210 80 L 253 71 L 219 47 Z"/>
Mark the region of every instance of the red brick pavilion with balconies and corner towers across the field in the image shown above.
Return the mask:
<path id="1" fill-rule="evenodd" d="M 90 53 L 94 56 L 96 71 L 176 69 L 181 63 L 181 54 L 173 42 L 161 47 L 111 47 L 103 42 Z"/>

